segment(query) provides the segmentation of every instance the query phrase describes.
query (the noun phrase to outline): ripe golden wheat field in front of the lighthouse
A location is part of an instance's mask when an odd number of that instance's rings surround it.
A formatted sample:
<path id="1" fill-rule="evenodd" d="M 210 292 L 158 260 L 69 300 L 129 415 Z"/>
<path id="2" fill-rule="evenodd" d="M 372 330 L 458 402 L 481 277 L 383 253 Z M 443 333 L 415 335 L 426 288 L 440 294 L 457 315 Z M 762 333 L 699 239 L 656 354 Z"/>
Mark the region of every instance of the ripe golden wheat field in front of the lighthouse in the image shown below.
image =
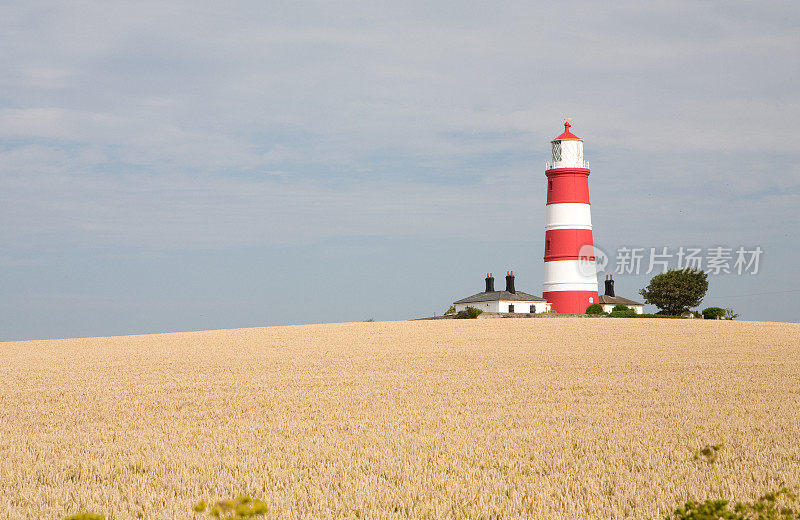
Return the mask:
<path id="1" fill-rule="evenodd" d="M 0 343 L 0 519 L 663 518 L 800 484 L 800 325 L 346 323 Z"/>

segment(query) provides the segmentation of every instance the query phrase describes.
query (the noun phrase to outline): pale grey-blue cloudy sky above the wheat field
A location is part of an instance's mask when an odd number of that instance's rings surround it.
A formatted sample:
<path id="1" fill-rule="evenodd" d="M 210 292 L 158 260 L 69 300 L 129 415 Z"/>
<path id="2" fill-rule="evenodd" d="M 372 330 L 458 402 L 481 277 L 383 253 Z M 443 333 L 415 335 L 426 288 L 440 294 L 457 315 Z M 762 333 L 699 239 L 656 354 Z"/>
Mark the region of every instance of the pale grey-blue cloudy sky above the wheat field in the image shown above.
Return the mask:
<path id="1" fill-rule="evenodd" d="M 5 2 L 0 340 L 431 316 L 509 269 L 541 294 L 565 117 L 601 286 L 621 247 L 632 299 L 650 248 L 760 247 L 701 308 L 796 321 L 798 26 L 792 1 Z"/>

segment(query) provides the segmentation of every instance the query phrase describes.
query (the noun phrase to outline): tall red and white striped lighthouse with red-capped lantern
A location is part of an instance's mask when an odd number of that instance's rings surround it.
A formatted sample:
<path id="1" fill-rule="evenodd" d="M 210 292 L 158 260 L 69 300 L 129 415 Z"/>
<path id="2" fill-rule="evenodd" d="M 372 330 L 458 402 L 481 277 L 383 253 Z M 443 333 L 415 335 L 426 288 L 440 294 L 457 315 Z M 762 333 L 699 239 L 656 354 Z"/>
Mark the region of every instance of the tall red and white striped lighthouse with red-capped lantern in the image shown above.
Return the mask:
<path id="1" fill-rule="evenodd" d="M 547 163 L 547 217 L 542 296 L 556 312 L 583 314 L 597 303 L 597 271 L 589 206 L 589 163 L 583 139 L 564 133 L 553 139 Z"/>

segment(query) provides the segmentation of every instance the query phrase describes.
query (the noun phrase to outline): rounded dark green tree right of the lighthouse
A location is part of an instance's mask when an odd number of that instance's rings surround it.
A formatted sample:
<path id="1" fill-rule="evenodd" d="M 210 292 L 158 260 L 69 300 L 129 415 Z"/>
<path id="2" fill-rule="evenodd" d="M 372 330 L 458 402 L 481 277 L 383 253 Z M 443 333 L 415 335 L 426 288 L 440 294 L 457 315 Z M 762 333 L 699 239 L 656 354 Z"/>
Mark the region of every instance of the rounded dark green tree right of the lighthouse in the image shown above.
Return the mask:
<path id="1" fill-rule="evenodd" d="M 671 269 L 653 277 L 639 291 L 645 303 L 655 305 L 666 314 L 679 315 L 697 307 L 708 291 L 708 275 L 695 269 Z"/>

